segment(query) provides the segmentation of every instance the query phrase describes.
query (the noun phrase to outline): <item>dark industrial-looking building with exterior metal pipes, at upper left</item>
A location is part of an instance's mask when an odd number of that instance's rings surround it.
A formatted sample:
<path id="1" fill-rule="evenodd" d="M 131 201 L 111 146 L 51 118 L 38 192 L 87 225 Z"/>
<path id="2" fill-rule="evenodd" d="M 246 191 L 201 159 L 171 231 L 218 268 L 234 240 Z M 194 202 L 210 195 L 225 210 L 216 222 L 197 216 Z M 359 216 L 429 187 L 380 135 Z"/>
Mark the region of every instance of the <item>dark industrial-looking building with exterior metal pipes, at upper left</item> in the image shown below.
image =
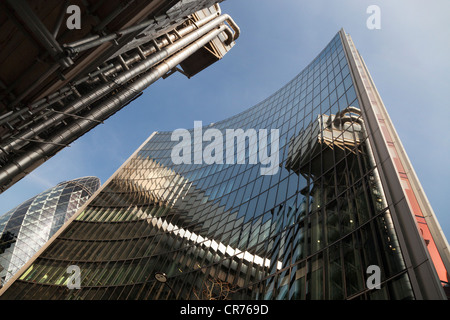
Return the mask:
<path id="1" fill-rule="evenodd" d="M 1 2 L 0 192 L 158 79 L 222 59 L 239 27 L 219 2 Z"/>

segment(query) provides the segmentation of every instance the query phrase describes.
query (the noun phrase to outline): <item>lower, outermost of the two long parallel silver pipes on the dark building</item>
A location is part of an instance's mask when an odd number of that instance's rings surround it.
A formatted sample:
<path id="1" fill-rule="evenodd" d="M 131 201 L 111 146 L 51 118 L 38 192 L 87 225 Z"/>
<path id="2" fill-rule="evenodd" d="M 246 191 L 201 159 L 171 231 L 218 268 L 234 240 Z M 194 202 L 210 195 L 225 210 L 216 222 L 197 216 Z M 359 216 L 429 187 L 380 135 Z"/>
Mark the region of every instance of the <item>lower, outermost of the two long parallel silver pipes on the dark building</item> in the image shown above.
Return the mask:
<path id="1" fill-rule="evenodd" d="M 200 39 L 191 43 L 180 52 L 174 54 L 166 61 L 160 63 L 148 73 L 144 74 L 135 82 L 128 84 L 117 94 L 105 99 L 97 108 L 91 110 L 83 119 L 78 119 L 69 124 L 63 130 L 56 133 L 51 140 L 43 144 L 36 145 L 28 150 L 24 155 L 21 155 L 11 161 L 9 164 L 0 168 L 0 185 L 5 186 L 14 177 L 27 170 L 32 165 L 43 162 L 43 160 L 52 154 L 58 152 L 61 148 L 57 144 L 69 144 L 78 136 L 87 132 L 96 126 L 91 120 L 105 119 L 111 114 L 120 110 L 124 104 L 130 102 L 132 99 L 140 95 L 142 91 L 161 78 L 164 74 L 175 68 L 178 64 L 184 61 L 187 57 L 205 46 L 212 39 L 217 37 L 221 32 L 228 28 L 225 25 L 218 27 L 215 30 L 203 35 Z"/>

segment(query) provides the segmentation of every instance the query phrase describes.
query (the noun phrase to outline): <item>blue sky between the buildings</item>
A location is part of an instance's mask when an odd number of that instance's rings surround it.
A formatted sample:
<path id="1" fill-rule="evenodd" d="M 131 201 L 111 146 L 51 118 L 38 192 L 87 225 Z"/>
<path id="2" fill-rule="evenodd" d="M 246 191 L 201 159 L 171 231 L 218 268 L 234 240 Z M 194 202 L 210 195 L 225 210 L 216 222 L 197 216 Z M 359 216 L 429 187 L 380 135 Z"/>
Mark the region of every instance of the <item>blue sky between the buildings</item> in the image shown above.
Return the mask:
<path id="1" fill-rule="evenodd" d="M 381 29 L 369 30 L 369 5 Z M 188 80 L 174 74 L 0 195 L 0 214 L 57 183 L 106 181 L 153 132 L 216 122 L 297 75 L 344 28 L 363 56 L 440 225 L 450 238 L 448 0 L 226 0 L 242 35 L 227 56 Z"/>

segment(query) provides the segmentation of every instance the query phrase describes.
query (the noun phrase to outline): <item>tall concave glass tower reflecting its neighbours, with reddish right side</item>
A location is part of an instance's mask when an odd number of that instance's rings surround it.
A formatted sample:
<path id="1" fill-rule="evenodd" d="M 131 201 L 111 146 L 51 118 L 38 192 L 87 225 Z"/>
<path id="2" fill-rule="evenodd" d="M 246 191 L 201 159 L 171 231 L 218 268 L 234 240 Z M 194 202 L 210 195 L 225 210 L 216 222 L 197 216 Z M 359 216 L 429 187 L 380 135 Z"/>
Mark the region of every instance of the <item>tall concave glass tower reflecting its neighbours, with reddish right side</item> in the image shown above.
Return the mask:
<path id="1" fill-rule="evenodd" d="M 215 161 L 177 164 L 180 141 L 153 133 L 1 298 L 447 299 L 447 240 L 343 30 L 280 90 L 209 129 L 271 133 L 264 146 L 245 139 L 245 161 L 217 157 L 225 139 L 200 151 L 193 140 L 192 158 Z M 270 174 L 249 161 L 258 148 L 278 154 Z"/>

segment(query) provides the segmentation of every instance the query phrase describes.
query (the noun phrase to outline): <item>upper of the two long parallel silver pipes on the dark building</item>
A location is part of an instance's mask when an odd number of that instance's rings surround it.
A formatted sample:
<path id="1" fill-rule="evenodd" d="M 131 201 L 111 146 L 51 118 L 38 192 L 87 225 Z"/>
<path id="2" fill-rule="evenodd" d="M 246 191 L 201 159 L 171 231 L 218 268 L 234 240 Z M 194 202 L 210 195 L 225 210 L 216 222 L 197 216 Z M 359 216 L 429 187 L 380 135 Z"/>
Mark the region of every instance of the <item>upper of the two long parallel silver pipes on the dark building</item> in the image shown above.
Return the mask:
<path id="1" fill-rule="evenodd" d="M 17 138 L 19 139 L 16 138 L 9 139 L 6 143 L 0 146 L 0 150 L 5 150 L 8 152 L 17 145 L 21 144 L 21 141 L 23 141 L 23 139 L 29 139 L 31 137 L 34 137 L 35 135 L 39 134 L 40 132 L 50 127 L 52 124 L 59 123 L 61 120 L 67 117 L 66 115 L 64 115 L 64 113 L 69 114 L 77 113 L 84 107 L 102 98 L 103 96 L 105 96 L 118 86 L 126 83 L 132 78 L 152 68 L 154 65 L 161 62 L 162 60 L 168 58 L 170 55 L 187 46 L 189 43 L 195 41 L 196 39 L 198 39 L 208 31 L 212 30 L 213 28 L 217 27 L 218 25 L 226 21 L 228 18 L 229 18 L 228 15 L 217 17 L 212 21 L 208 22 L 207 24 L 205 24 L 204 26 L 200 27 L 199 29 L 187 34 L 186 36 L 179 39 L 175 43 L 167 46 L 164 49 L 161 49 L 160 51 L 153 53 L 152 55 L 148 56 L 146 60 L 140 62 L 131 70 L 128 70 L 118 75 L 113 82 L 101 85 L 97 90 L 82 96 L 81 98 L 69 104 L 63 110 L 60 110 L 63 113 L 50 115 L 47 120 L 38 123 L 34 127 L 27 130 L 26 132 L 17 135 Z"/>

